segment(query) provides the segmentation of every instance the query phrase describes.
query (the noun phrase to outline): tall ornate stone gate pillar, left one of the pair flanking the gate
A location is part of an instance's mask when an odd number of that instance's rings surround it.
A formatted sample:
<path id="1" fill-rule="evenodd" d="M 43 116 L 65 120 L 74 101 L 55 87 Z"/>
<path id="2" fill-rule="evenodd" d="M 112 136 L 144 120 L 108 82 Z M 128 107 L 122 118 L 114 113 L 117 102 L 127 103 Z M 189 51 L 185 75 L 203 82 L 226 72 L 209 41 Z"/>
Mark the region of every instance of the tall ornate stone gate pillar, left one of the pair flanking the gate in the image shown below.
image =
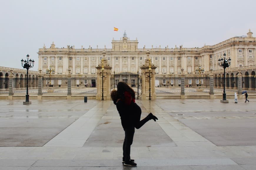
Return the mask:
<path id="1" fill-rule="evenodd" d="M 110 100 L 110 77 L 111 69 L 105 55 L 106 52 L 102 52 L 103 58 L 101 63 L 96 67 L 97 69 L 97 94 L 96 100 Z M 103 85 L 103 86 L 102 86 Z M 103 97 L 102 97 L 103 96 Z"/>

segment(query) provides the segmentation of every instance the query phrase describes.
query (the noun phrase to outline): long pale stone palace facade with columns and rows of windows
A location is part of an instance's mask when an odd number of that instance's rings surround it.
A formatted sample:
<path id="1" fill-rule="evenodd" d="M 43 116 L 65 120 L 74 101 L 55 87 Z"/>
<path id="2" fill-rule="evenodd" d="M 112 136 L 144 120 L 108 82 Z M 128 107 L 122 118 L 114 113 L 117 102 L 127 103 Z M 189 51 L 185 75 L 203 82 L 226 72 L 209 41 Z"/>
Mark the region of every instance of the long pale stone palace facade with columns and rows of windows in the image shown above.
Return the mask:
<path id="1" fill-rule="evenodd" d="M 126 33 L 120 40 L 112 40 L 112 48 L 75 48 L 67 45 L 66 48 L 58 48 L 54 43 L 50 48 L 39 49 L 39 68 L 42 72 L 47 69 L 55 69 L 54 74 L 65 75 L 68 70 L 71 74 L 96 74 L 96 68 L 102 60 L 102 52 L 105 51 L 105 59 L 112 67 L 112 73 L 119 72 L 141 72 L 140 66 L 144 64 L 150 52 L 152 63 L 157 66 L 156 74 L 195 74 L 196 69 L 201 66 L 205 72 L 221 72 L 223 69 L 218 64 L 218 59 L 224 53 L 227 58 L 231 58 L 228 69 L 238 70 L 250 68 L 252 72 L 256 65 L 256 38 L 249 30 L 247 36 L 237 36 L 222 41 L 215 45 L 205 45 L 203 47 L 186 48 L 180 45 L 170 48 L 138 48 L 138 40 L 130 40 Z M 227 69 L 227 71 L 228 71 Z"/>

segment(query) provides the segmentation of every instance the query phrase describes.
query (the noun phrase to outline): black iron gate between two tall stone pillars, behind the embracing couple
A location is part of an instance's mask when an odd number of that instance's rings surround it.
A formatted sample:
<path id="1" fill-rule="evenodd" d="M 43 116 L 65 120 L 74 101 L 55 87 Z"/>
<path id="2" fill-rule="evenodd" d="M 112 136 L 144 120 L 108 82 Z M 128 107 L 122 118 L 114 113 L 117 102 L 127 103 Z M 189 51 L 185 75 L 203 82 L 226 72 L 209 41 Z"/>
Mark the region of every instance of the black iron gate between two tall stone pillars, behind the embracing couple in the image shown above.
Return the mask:
<path id="1" fill-rule="evenodd" d="M 118 74 L 112 74 L 110 78 L 110 91 L 113 89 L 117 90 L 117 83 L 119 81 L 124 81 L 127 83 L 135 92 L 135 96 L 139 99 L 139 95 L 142 93 L 142 78 L 139 76 L 139 72 L 121 72 Z"/>

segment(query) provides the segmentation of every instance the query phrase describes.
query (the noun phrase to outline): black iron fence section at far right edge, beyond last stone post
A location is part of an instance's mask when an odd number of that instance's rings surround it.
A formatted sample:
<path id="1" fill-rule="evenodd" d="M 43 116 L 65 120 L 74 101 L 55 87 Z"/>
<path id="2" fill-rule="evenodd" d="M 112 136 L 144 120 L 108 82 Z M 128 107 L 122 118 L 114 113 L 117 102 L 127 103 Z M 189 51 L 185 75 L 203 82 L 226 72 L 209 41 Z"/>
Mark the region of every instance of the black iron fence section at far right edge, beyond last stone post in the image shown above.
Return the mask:
<path id="1" fill-rule="evenodd" d="M 246 76 L 246 77 L 242 77 L 242 89 L 243 91 L 247 91 L 247 93 L 250 94 L 256 94 L 256 79 L 254 76 Z"/>

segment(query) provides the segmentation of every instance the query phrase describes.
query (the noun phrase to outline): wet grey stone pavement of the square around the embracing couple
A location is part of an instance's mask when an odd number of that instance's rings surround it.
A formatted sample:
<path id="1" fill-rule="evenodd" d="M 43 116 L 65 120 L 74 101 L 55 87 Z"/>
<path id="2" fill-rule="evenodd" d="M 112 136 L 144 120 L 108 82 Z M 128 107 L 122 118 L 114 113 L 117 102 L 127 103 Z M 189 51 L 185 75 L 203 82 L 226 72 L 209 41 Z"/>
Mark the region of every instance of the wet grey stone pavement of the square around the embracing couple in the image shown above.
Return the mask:
<path id="1" fill-rule="evenodd" d="M 142 118 L 122 165 L 124 131 L 112 101 L 0 100 L 0 170 L 256 169 L 256 99 L 136 102 Z"/>

